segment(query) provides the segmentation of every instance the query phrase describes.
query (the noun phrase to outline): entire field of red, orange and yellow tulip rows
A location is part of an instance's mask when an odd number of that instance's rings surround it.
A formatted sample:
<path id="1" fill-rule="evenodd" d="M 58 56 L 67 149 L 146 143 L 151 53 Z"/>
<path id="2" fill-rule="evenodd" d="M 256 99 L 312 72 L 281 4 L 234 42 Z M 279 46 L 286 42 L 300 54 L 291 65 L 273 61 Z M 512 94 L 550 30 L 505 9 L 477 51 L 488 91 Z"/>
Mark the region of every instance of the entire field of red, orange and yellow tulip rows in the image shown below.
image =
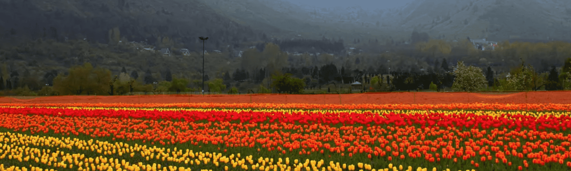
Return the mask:
<path id="1" fill-rule="evenodd" d="M 571 104 L 0 104 L 0 171 L 571 170 Z"/>

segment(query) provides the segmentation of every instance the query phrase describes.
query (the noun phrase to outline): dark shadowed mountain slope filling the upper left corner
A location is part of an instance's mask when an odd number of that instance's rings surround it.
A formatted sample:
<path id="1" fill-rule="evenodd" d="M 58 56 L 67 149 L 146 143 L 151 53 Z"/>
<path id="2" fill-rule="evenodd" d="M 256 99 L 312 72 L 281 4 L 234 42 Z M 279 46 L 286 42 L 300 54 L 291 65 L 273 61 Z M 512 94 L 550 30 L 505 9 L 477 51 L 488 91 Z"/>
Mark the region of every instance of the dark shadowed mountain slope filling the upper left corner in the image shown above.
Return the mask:
<path id="1" fill-rule="evenodd" d="M 216 35 L 207 46 L 218 48 L 244 39 L 255 41 L 263 34 L 193 0 L 2 0 L 0 15 L 4 37 L 86 38 L 107 43 L 108 31 L 118 27 L 120 37 L 128 41 L 155 43 L 159 37 L 170 37 L 166 46 L 198 49 L 200 36 Z"/>

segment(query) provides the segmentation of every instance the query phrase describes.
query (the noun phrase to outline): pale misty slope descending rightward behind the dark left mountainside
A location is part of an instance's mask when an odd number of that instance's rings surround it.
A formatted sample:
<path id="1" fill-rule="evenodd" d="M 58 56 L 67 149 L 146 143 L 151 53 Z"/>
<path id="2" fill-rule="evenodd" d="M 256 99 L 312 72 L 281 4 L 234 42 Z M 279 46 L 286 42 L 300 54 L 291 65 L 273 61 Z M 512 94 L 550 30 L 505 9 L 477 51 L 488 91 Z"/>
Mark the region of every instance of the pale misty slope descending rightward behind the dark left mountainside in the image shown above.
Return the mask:
<path id="1" fill-rule="evenodd" d="M 274 0 L 199 0 L 227 18 L 259 30 L 271 31 L 268 36 L 291 39 L 354 39 L 381 38 L 379 29 L 356 26 L 355 23 L 314 22 L 313 15 L 303 8 L 285 1 Z M 369 27 L 369 28 L 367 28 Z M 387 36 L 388 37 L 388 36 Z"/>

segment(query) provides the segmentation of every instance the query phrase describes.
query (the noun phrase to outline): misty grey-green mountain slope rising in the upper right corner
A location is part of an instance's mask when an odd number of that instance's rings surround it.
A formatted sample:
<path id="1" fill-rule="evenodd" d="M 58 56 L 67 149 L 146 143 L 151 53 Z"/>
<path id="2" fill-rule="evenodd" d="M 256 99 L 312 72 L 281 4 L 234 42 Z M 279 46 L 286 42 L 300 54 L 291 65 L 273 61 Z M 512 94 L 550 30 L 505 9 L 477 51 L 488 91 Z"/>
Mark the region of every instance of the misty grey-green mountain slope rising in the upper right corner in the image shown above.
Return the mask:
<path id="1" fill-rule="evenodd" d="M 568 1 L 425 0 L 400 22 L 433 37 L 571 39 Z M 438 9 L 438 10 L 435 10 Z"/>

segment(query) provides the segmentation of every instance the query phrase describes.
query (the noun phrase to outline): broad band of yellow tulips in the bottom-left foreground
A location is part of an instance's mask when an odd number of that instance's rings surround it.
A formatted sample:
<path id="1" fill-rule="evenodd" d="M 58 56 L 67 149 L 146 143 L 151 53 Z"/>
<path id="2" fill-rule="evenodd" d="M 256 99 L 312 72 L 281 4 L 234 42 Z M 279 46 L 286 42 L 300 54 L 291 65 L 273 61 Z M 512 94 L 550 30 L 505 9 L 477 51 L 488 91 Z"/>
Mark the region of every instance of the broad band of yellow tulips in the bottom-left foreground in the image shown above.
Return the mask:
<path id="1" fill-rule="evenodd" d="M 277 162 L 274 162 L 274 158 L 258 158 L 258 160 L 253 160 L 253 156 L 246 156 L 242 158 L 240 153 L 234 155 L 231 154 L 230 156 L 223 156 L 221 153 L 203 153 L 203 152 L 192 152 L 192 150 L 183 151 L 182 149 L 165 149 L 165 148 L 156 148 L 156 146 L 149 148 L 146 145 L 140 146 L 135 144 L 134 146 L 128 145 L 123 142 L 115 142 L 114 144 L 109 142 L 101 142 L 101 141 L 94 141 L 89 140 L 79 140 L 77 138 L 55 138 L 55 137 L 39 137 L 39 136 L 29 136 L 26 134 L 20 133 L 10 133 L 10 132 L 0 132 L 0 145 L 2 149 L 0 149 L 0 160 L 5 160 L 6 158 L 9 160 L 18 160 L 19 162 L 32 162 L 36 164 L 43 164 L 44 166 L 48 167 L 55 167 L 55 168 L 70 168 L 75 169 L 77 168 L 78 171 L 95 171 L 95 170 L 107 170 L 107 171 L 191 171 L 190 167 L 176 167 L 176 166 L 163 166 L 161 164 L 156 163 L 148 163 L 143 164 L 143 162 L 136 162 L 131 164 L 129 161 L 124 159 L 120 160 L 118 158 L 109 158 L 109 157 L 86 157 L 85 154 L 79 153 L 66 153 L 64 149 L 71 150 L 71 149 L 81 149 L 92 152 L 96 152 L 104 155 L 111 155 L 116 154 L 119 157 L 126 158 L 127 156 L 134 158 L 140 157 L 145 158 L 147 161 L 151 158 L 156 158 L 157 160 L 160 158 L 162 161 L 168 162 L 177 162 L 179 164 L 190 164 L 190 166 L 196 165 L 200 166 L 201 163 L 203 165 L 207 165 L 208 163 L 214 164 L 216 167 L 224 170 L 230 169 L 231 166 L 232 170 L 238 170 L 236 168 L 242 168 L 243 170 L 248 170 L 251 168 L 252 170 L 288 170 L 288 171 L 341 171 L 341 170 L 403 170 L 403 166 L 393 166 L 392 164 L 388 165 L 388 168 L 384 169 L 373 169 L 371 165 L 359 163 L 357 166 L 355 165 L 341 165 L 339 162 L 334 163 L 333 161 L 329 162 L 329 165 L 325 165 L 325 161 L 314 161 L 314 160 L 305 160 L 305 162 L 301 163 L 298 160 L 293 161 L 291 164 L 289 158 L 283 160 L 282 158 L 278 158 Z M 39 146 L 40 148 L 30 147 L 31 145 Z M 55 152 L 51 151 L 50 149 L 45 148 L 57 148 Z M 59 150 L 59 149 L 62 150 Z M 127 154 L 128 153 L 128 154 Z M 124 155 L 127 154 L 127 155 Z M 257 161 L 257 162 L 256 162 Z M 3 165 L 2 170 L 10 170 L 10 171 L 27 171 L 28 168 L 4 168 Z M 47 170 L 47 169 L 43 169 Z M 413 170 L 412 166 L 408 166 L 408 171 Z M 416 170 L 425 171 L 428 170 L 427 168 L 417 168 Z M 436 168 L 432 169 L 433 171 Z M 447 169 L 448 170 L 448 169 Z M 30 167 L 30 171 L 42 171 L 42 169 L 36 167 Z M 51 169 L 50 171 L 53 171 Z"/>

